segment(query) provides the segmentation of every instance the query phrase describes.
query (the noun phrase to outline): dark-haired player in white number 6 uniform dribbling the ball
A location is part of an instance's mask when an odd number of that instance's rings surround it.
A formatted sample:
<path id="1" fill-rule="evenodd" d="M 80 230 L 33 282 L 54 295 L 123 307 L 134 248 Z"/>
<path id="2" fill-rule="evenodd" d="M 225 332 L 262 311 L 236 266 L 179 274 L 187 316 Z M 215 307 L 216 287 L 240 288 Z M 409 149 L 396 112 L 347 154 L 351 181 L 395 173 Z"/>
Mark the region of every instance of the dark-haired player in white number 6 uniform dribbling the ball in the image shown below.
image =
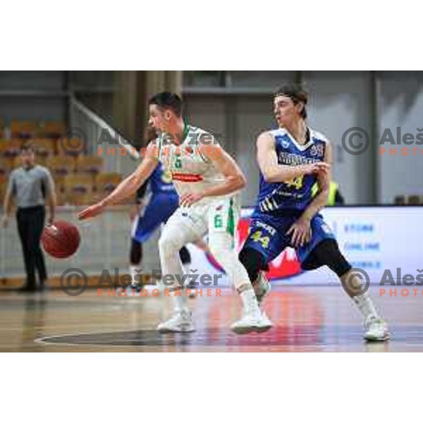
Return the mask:
<path id="1" fill-rule="evenodd" d="M 171 176 L 180 197 L 180 207 L 168 219 L 159 239 L 161 271 L 174 275 L 175 311 L 171 319 L 158 326 L 159 331 L 194 331 L 185 293 L 176 276 L 183 271 L 178 252 L 183 245 L 209 234 L 209 248 L 225 269 L 243 303 L 243 316 L 231 329 L 235 333 L 265 331 L 271 322 L 262 314 L 245 267 L 234 248 L 238 204 L 236 193 L 246 180 L 238 165 L 214 137 L 191 125 L 185 125 L 182 103 L 176 94 L 161 92 L 149 100 L 149 124 L 159 137 L 147 147 L 145 159 L 114 192 L 101 202 L 80 212 L 80 219 L 96 216 L 111 205 L 133 195 L 149 177 L 157 162 Z"/>

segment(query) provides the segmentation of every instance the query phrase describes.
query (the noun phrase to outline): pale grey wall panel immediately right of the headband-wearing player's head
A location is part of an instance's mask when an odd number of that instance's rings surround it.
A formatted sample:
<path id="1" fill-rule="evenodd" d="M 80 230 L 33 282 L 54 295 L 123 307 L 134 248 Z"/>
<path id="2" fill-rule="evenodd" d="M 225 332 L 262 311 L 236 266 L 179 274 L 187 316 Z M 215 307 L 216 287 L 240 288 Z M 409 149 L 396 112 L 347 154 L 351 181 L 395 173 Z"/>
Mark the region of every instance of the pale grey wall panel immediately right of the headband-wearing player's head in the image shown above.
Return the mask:
<path id="1" fill-rule="evenodd" d="M 308 124 L 333 146 L 333 179 L 348 203 L 372 204 L 372 148 L 354 156 L 341 143 L 348 128 L 360 126 L 371 133 L 370 73 L 305 72 L 304 80 L 311 93 Z"/>

